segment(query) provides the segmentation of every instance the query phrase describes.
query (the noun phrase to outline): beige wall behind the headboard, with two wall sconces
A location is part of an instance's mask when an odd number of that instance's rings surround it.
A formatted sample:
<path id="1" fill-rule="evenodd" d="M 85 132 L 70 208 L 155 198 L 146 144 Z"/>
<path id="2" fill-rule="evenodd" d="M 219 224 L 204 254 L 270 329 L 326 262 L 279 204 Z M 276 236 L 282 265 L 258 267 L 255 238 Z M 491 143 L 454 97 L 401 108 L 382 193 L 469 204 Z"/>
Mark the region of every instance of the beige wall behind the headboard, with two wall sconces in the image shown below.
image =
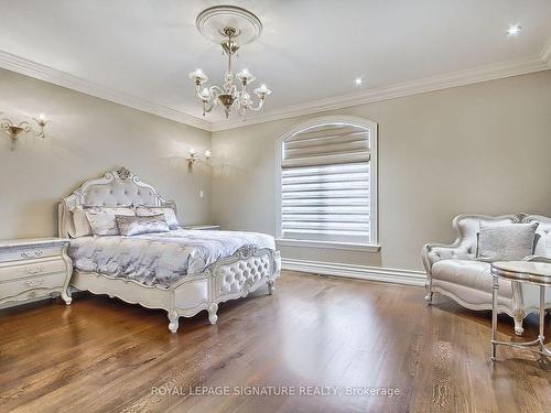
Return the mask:
<path id="1" fill-rule="evenodd" d="M 120 165 L 175 199 L 183 222 L 210 220 L 209 167 L 184 161 L 210 148 L 210 132 L 2 69 L 0 112 L 52 120 L 46 140 L 22 137 L 14 151 L 0 134 L 0 239 L 56 235 L 57 199 Z"/>

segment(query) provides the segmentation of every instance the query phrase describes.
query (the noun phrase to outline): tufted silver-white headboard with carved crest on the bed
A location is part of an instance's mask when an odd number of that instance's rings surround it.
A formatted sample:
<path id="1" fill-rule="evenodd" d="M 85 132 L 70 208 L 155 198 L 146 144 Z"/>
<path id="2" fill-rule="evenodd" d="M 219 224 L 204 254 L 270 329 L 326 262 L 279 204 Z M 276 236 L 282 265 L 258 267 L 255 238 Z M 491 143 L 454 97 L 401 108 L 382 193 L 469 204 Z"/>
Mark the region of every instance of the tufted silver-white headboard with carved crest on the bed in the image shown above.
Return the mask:
<path id="1" fill-rule="evenodd" d="M 79 205 L 119 206 L 119 205 L 166 205 L 174 210 L 173 200 L 164 200 L 151 185 L 140 181 L 126 167 L 107 172 L 102 177 L 86 181 L 66 198 L 62 198 L 57 208 L 60 237 L 69 237 L 73 231 L 72 210 Z"/>

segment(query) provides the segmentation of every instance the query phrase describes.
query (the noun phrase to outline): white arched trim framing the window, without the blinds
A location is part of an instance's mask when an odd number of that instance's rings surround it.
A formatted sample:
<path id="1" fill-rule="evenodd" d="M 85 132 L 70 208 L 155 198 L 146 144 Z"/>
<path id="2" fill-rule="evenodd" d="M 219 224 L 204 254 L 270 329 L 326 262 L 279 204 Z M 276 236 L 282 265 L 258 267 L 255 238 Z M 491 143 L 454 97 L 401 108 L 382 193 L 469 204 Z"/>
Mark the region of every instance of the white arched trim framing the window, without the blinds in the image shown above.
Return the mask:
<path id="1" fill-rule="evenodd" d="M 320 127 L 323 124 L 342 123 L 346 126 L 358 126 L 369 130 L 369 146 L 370 146 L 370 176 L 369 176 L 369 192 L 370 192 L 370 240 L 366 243 L 353 242 L 331 242 L 331 241 L 312 241 L 302 239 L 283 238 L 282 230 L 282 169 L 281 162 L 283 160 L 283 142 L 296 133 L 301 133 L 306 129 Z M 281 246 L 295 246 L 295 247 L 310 247 L 310 248 L 335 248 L 342 250 L 361 250 L 361 251 L 378 251 L 379 250 L 379 219 L 378 219 L 378 133 L 377 123 L 354 116 L 336 115 L 324 116 L 320 118 L 310 119 L 305 122 L 296 124 L 294 128 L 282 133 L 276 140 L 276 239 Z"/>

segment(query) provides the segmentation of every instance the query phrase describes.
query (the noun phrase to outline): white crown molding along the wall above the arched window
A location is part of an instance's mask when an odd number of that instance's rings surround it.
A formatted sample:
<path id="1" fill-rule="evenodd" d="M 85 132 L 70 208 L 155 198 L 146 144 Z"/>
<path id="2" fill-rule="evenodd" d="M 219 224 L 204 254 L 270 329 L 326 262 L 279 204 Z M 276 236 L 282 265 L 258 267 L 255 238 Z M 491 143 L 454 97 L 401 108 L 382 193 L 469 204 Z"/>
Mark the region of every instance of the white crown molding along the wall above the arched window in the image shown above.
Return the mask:
<path id="1" fill-rule="evenodd" d="M 487 80 L 496 80 L 505 77 L 526 75 L 533 72 L 547 70 L 550 68 L 548 62 L 543 59 L 543 52 L 540 56 L 527 57 L 517 61 L 497 63 L 479 66 L 466 70 L 453 72 L 445 75 L 437 75 L 419 80 L 404 81 L 377 89 L 361 93 L 343 95 L 339 97 L 310 101 L 306 104 L 289 106 L 276 109 L 269 113 L 255 116 L 245 121 L 230 120 L 212 123 L 213 132 L 227 129 L 241 128 L 249 124 L 271 122 L 274 120 L 294 118 L 304 115 L 312 115 L 327 110 L 359 106 L 380 100 L 396 99 L 400 97 L 423 94 L 428 91 L 447 89 L 451 87 L 476 84 Z M 551 46 L 547 50 L 548 59 L 551 58 Z"/>

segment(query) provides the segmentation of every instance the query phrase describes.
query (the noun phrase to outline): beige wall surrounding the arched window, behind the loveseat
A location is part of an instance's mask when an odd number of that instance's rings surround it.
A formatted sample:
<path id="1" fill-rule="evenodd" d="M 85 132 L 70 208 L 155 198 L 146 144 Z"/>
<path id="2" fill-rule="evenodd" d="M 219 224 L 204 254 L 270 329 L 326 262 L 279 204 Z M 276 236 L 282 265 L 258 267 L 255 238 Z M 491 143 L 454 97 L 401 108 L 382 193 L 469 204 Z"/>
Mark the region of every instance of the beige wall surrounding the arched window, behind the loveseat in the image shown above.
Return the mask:
<path id="1" fill-rule="evenodd" d="M 215 221 L 274 233 L 274 141 L 333 113 L 379 124 L 380 252 L 285 248 L 283 257 L 420 270 L 423 243 L 452 241 L 457 214 L 551 216 L 547 70 L 215 132 Z"/>

